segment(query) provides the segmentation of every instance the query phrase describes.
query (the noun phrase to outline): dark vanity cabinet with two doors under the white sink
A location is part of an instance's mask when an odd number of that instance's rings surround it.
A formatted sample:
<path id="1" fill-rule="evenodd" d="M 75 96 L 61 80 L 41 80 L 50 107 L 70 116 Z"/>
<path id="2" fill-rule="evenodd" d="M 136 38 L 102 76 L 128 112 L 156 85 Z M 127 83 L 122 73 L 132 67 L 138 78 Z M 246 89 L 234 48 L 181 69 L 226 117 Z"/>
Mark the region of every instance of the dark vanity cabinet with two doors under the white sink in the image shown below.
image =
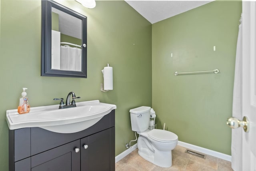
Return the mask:
<path id="1" fill-rule="evenodd" d="M 114 171 L 115 111 L 76 133 L 9 130 L 9 171 Z"/>

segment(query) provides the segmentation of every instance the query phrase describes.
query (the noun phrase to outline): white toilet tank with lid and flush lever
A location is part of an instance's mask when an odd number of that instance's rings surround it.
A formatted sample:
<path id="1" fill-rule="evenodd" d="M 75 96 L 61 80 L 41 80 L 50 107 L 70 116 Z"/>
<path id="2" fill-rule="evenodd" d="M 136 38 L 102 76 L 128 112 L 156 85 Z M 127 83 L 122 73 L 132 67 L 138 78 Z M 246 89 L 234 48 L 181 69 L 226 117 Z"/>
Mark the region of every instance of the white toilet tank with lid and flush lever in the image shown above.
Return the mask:
<path id="1" fill-rule="evenodd" d="M 151 107 L 148 106 L 130 109 L 132 131 L 143 132 L 148 129 L 150 109 Z"/>

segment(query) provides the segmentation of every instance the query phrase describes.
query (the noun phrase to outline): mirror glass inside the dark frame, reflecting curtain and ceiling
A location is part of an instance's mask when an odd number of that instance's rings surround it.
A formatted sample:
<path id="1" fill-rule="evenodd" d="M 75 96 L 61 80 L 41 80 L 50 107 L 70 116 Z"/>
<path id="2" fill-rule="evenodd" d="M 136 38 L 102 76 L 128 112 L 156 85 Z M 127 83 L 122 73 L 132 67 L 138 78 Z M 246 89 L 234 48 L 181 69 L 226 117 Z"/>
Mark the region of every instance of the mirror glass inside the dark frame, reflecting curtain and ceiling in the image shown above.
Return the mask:
<path id="1" fill-rule="evenodd" d="M 82 71 L 82 20 L 52 8 L 52 69 Z"/>

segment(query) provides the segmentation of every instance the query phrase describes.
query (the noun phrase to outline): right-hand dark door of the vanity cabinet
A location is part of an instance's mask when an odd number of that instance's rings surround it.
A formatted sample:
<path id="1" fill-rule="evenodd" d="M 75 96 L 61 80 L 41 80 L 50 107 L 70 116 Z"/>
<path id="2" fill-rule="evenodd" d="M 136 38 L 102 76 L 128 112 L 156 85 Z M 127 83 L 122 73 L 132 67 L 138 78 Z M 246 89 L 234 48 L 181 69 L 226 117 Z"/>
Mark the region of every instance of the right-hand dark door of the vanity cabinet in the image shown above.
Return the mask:
<path id="1" fill-rule="evenodd" d="M 110 171 L 110 129 L 81 139 L 81 171 Z"/>

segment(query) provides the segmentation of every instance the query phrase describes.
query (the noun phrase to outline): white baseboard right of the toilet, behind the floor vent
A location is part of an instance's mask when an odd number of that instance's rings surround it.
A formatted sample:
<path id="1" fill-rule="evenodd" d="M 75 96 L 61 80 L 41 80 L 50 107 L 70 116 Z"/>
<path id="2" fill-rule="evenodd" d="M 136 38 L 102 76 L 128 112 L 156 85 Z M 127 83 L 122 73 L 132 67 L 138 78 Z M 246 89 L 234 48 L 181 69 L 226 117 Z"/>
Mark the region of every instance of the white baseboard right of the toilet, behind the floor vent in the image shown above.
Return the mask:
<path id="1" fill-rule="evenodd" d="M 231 161 L 231 155 L 226 155 L 226 154 L 223 154 L 223 153 L 220 153 L 220 152 L 217 152 L 217 151 L 213 151 L 213 150 L 206 149 L 206 148 L 203 148 L 203 147 L 199 147 L 199 146 L 196 146 L 196 145 L 192 145 L 192 144 L 189 144 L 189 143 L 184 143 L 182 141 L 178 141 L 178 145 L 180 145 L 182 147 L 192 149 L 194 151 L 198 151 L 200 153 L 204 153 L 204 154 L 207 154 L 207 155 L 218 157 L 220 159 Z"/>

